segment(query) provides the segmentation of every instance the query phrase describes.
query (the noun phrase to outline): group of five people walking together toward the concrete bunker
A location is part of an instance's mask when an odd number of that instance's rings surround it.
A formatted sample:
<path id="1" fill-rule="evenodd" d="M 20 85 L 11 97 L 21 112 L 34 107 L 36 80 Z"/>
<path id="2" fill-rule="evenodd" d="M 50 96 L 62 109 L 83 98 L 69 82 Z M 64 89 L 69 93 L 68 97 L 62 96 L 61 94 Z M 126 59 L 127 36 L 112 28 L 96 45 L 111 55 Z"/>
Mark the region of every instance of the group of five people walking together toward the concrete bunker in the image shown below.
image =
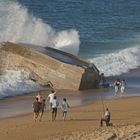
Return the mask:
<path id="1" fill-rule="evenodd" d="M 56 92 L 54 90 L 48 95 L 47 100 L 49 100 L 49 110 L 52 113 L 52 121 L 56 120 L 57 109 L 59 106 L 59 102 L 56 97 Z M 33 112 L 34 112 L 34 121 L 41 121 L 44 111 L 46 109 L 46 99 L 42 99 L 40 94 L 35 97 L 35 101 L 32 104 Z M 66 98 L 63 98 L 61 109 L 62 109 L 62 119 L 65 121 L 67 112 L 68 112 L 69 104 Z"/>

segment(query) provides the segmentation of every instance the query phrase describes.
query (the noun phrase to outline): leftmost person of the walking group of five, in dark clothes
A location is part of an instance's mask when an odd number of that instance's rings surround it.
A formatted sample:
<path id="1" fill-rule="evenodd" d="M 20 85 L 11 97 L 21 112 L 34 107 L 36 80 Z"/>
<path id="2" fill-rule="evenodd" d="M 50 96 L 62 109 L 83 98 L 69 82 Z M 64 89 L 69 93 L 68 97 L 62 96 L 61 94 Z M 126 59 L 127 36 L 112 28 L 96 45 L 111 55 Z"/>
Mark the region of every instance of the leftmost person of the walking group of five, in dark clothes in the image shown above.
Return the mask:
<path id="1" fill-rule="evenodd" d="M 38 101 L 38 98 L 35 98 L 32 107 L 34 112 L 34 121 L 36 122 L 40 112 L 40 102 Z"/>

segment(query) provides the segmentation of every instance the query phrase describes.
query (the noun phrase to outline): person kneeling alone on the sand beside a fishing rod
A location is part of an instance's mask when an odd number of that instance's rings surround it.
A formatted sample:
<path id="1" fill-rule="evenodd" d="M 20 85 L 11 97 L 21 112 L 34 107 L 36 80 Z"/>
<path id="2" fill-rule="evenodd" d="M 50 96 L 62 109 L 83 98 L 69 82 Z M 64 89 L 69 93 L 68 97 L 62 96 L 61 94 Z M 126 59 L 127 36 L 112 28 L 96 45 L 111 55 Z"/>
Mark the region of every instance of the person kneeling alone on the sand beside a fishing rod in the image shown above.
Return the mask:
<path id="1" fill-rule="evenodd" d="M 105 114 L 104 114 L 104 118 L 101 118 L 100 121 L 100 126 L 103 126 L 103 121 L 106 123 L 106 126 L 110 126 L 110 118 L 111 118 L 111 114 L 108 108 L 106 108 Z"/>

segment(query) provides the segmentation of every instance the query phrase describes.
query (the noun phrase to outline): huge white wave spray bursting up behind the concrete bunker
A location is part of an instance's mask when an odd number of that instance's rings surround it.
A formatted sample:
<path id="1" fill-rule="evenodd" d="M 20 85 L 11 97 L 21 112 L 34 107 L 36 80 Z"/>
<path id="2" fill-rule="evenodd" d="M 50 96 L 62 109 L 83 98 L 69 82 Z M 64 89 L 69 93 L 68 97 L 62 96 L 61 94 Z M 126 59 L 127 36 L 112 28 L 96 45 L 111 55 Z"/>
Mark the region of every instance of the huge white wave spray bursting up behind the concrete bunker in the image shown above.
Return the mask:
<path id="1" fill-rule="evenodd" d="M 75 29 L 56 32 L 21 4 L 9 0 L 0 0 L 0 41 L 49 46 L 72 54 L 79 52 L 80 45 Z"/>

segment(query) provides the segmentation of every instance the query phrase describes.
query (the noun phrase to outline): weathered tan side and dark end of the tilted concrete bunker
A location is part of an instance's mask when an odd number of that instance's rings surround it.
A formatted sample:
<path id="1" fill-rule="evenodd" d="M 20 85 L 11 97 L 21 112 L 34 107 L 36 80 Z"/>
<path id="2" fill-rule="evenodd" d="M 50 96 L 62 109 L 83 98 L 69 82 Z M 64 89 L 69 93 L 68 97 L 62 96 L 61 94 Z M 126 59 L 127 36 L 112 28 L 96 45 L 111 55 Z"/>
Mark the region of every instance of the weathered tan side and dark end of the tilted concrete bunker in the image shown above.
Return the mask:
<path id="1" fill-rule="evenodd" d="M 68 54 L 63 52 L 63 55 Z M 73 56 L 73 59 L 78 61 L 77 57 Z M 89 89 L 96 87 L 99 81 L 98 72 L 93 72 L 87 66 L 83 68 L 64 63 L 47 54 L 9 42 L 0 46 L 0 71 L 5 70 L 25 70 L 40 85 L 45 86 L 51 81 L 56 89 Z"/>

